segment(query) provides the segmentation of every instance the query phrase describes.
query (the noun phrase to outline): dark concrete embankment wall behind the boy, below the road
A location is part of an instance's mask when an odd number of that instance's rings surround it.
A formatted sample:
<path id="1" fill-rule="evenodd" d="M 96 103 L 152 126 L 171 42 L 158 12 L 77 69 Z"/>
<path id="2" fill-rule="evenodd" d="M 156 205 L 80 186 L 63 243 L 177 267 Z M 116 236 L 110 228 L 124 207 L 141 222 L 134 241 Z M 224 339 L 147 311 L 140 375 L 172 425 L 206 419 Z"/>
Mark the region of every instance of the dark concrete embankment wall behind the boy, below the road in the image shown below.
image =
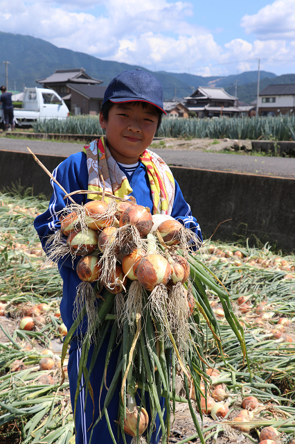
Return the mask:
<path id="1" fill-rule="evenodd" d="M 49 171 L 64 156 L 38 155 Z M 220 225 L 214 239 L 241 236 L 287 250 L 295 249 L 295 179 L 244 173 L 171 167 L 206 237 Z M 50 180 L 29 153 L 0 151 L 0 188 L 20 182 L 35 195 L 51 196 Z"/>

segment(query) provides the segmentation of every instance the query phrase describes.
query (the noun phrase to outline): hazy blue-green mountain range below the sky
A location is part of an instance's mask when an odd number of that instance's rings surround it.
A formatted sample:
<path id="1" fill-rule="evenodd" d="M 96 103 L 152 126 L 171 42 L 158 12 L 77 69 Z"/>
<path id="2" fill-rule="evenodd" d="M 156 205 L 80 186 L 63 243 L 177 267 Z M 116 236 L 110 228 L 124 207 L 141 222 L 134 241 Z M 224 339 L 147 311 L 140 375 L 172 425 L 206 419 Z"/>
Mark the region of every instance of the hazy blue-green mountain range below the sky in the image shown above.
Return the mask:
<path id="1" fill-rule="evenodd" d="M 199 86 L 224 87 L 235 95 L 235 84 L 240 101 L 251 103 L 256 99 L 258 71 L 247 71 L 231 76 L 195 76 L 194 74 L 149 71 L 137 65 L 102 60 L 86 53 L 57 48 L 45 40 L 30 35 L 0 32 L 2 60 L 7 60 L 8 89 L 22 91 L 24 87 L 39 85 L 36 80 L 47 77 L 55 69 L 83 67 L 89 76 L 103 80 L 103 85 L 124 70 L 141 68 L 151 72 L 163 85 L 164 99 L 181 99 Z M 5 64 L 0 65 L 0 83 L 6 83 Z M 295 83 L 295 74 L 276 74 L 260 71 L 260 90 L 271 83 Z"/>

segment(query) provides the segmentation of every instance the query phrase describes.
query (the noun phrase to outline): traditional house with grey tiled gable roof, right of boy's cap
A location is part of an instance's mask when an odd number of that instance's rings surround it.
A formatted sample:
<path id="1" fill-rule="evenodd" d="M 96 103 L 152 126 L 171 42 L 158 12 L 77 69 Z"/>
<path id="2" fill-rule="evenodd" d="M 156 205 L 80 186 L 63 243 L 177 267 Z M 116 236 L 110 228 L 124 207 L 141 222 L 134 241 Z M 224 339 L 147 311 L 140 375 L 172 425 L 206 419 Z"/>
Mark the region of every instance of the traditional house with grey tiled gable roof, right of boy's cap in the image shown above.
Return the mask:
<path id="1" fill-rule="evenodd" d="M 238 116 L 240 110 L 235 106 L 238 97 L 231 96 L 224 88 L 200 86 L 191 96 L 184 97 L 184 105 L 195 112 L 196 117 Z"/>

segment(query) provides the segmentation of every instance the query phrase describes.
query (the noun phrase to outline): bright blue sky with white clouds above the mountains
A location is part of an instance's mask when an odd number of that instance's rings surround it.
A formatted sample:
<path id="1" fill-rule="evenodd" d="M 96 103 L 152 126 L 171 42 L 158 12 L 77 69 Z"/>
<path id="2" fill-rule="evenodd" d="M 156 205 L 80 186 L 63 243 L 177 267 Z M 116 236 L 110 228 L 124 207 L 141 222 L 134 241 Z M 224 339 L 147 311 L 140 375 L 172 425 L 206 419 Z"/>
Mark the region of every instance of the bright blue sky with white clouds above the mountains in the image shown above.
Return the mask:
<path id="1" fill-rule="evenodd" d="M 152 70 L 295 72 L 295 0 L 0 0 L 0 31 Z"/>

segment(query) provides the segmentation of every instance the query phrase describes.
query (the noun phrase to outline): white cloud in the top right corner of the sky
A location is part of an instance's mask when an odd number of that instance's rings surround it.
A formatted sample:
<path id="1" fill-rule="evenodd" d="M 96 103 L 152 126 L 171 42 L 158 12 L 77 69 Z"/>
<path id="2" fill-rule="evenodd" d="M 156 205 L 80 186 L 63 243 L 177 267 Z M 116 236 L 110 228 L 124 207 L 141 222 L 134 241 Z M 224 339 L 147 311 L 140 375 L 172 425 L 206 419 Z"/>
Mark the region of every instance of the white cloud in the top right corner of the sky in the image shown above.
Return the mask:
<path id="1" fill-rule="evenodd" d="M 245 15 L 241 26 L 260 40 L 294 40 L 295 0 L 276 0 L 255 15 Z"/>

